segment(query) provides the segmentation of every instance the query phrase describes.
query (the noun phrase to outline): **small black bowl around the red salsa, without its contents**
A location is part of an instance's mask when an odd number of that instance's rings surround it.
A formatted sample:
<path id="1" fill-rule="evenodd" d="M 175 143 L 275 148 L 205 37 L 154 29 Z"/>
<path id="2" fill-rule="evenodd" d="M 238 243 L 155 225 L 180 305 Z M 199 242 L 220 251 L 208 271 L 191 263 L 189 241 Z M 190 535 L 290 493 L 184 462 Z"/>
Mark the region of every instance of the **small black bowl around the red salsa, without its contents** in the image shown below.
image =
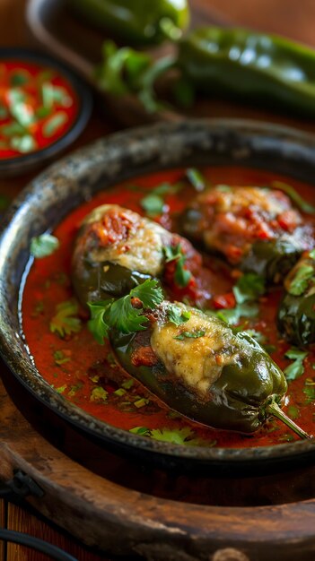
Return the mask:
<path id="1" fill-rule="evenodd" d="M 92 112 L 92 91 L 66 65 L 52 56 L 44 55 L 35 50 L 25 48 L 0 48 L 0 64 L 2 61 L 18 60 L 25 63 L 35 63 L 43 67 L 52 68 L 61 74 L 74 89 L 78 99 L 78 112 L 74 124 L 57 141 L 52 142 L 41 150 L 22 154 L 16 158 L 0 159 L 0 174 L 2 177 L 18 176 L 34 168 L 43 166 L 64 151 L 83 132 Z"/>

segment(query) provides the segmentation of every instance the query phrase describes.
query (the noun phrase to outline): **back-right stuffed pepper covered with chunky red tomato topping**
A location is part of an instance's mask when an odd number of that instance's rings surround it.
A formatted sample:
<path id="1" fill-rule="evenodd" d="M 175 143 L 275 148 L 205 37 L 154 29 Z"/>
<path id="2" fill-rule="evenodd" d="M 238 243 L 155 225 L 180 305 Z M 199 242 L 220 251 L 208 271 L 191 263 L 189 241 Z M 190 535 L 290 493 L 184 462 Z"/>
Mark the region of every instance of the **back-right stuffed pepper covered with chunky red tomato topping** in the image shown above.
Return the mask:
<path id="1" fill-rule="evenodd" d="M 290 198 L 267 187 L 208 188 L 188 206 L 181 224 L 185 236 L 272 284 L 280 282 L 313 243 L 311 226 Z"/>

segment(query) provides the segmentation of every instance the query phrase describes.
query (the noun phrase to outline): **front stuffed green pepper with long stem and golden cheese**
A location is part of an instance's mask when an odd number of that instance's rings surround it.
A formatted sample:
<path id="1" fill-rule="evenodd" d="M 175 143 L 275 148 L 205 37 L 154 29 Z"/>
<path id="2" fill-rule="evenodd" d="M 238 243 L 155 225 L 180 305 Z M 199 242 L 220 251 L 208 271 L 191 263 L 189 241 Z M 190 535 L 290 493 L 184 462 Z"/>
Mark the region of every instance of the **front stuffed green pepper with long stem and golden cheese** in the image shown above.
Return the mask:
<path id="1" fill-rule="evenodd" d="M 267 352 L 246 332 L 234 334 L 221 320 L 188 306 L 175 306 L 186 315 L 175 324 L 173 307 L 162 302 L 145 331 L 111 330 L 127 372 L 171 408 L 211 427 L 252 433 L 270 414 L 284 420 L 278 404 L 287 384 Z M 307 437 L 290 419 L 285 422 Z"/>

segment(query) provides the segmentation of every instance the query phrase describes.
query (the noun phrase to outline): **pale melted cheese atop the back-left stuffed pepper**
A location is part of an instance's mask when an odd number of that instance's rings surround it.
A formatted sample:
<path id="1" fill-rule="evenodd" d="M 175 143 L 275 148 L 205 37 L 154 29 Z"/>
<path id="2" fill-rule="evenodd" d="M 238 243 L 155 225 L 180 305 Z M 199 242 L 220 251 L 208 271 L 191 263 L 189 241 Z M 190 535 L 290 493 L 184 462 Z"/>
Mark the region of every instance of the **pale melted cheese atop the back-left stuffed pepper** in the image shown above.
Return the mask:
<path id="1" fill-rule="evenodd" d="M 115 204 L 103 204 L 97 207 L 86 217 L 83 224 L 92 224 L 101 220 L 103 215 L 112 209 L 123 211 L 135 227 L 129 230 L 127 239 L 92 250 L 92 260 L 109 261 L 127 267 L 131 271 L 159 275 L 164 263 L 162 247 L 170 245 L 171 233 L 160 224 Z"/>

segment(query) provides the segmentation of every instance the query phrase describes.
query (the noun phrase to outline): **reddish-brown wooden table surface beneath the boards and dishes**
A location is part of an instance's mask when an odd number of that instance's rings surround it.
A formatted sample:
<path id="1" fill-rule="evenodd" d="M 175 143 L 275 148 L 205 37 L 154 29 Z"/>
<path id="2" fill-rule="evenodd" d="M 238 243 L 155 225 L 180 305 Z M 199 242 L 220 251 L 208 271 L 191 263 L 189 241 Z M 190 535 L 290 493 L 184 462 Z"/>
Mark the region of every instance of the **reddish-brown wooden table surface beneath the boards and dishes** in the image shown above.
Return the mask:
<path id="1" fill-rule="evenodd" d="M 194 0 L 196 4 L 203 6 L 206 10 L 216 10 L 240 25 L 250 26 L 258 30 L 282 33 L 293 39 L 301 40 L 315 46 L 315 3 L 313 0 Z M 32 39 L 24 22 L 25 0 L 0 0 L 0 47 L 9 46 L 31 46 Z M 193 0 L 191 0 L 193 4 Z M 258 117 L 260 119 L 272 119 L 292 125 L 300 125 L 304 129 L 315 130 L 314 125 L 307 122 L 299 123 L 289 118 L 275 117 L 267 113 L 257 112 L 252 109 L 227 106 L 218 106 L 216 116 L 229 115 L 238 117 Z M 72 148 L 81 146 L 93 139 L 109 134 L 118 125 L 109 124 L 100 118 L 98 109 L 94 110 L 90 124 L 75 142 Z M 0 194 L 8 194 L 10 197 L 19 193 L 23 186 L 31 180 L 32 175 L 14 178 L 0 178 Z M 0 385 L 1 392 L 4 388 Z M 1 412 L 0 412 L 1 414 Z M 1 461 L 1 459 L 0 459 Z M 105 557 L 92 554 L 86 548 L 81 547 L 74 539 L 61 533 L 57 528 L 39 520 L 34 514 L 30 514 L 21 507 L 4 504 L 0 500 L 0 527 L 30 532 L 43 539 L 65 548 L 80 560 L 99 561 Z M 1 561 L 45 561 L 48 557 L 35 554 L 25 548 L 9 545 L 1 547 Z"/>

